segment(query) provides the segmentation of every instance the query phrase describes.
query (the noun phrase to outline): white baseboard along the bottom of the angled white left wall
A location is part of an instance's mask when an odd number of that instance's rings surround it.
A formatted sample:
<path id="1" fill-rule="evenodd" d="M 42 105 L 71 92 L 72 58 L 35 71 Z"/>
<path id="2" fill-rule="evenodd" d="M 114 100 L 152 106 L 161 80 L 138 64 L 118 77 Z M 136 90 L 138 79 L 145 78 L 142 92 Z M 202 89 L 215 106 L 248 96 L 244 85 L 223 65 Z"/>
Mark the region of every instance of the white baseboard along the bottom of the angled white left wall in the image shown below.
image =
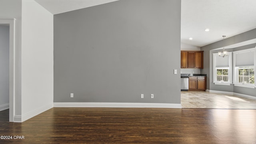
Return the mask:
<path id="1" fill-rule="evenodd" d="M 28 119 L 30 119 L 30 118 L 32 118 L 32 117 L 42 113 L 42 112 L 45 112 L 46 110 L 51 109 L 51 108 L 53 108 L 53 103 L 50 103 L 50 104 L 48 104 L 48 105 L 46 105 L 44 107 L 40 107 L 40 108 L 38 108 L 36 110 L 28 112 L 27 114 L 23 114 L 22 116 L 14 115 L 14 122 L 24 122 L 24 121 L 26 121 L 26 120 L 28 120 Z"/>

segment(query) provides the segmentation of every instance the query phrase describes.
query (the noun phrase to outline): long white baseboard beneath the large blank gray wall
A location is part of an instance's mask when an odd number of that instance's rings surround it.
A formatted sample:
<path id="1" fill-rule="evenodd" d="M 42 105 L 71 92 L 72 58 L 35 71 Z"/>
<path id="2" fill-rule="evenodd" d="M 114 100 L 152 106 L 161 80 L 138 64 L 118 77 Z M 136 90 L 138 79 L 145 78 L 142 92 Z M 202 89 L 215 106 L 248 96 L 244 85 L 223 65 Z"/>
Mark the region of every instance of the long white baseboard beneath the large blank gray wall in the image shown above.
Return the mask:
<path id="1" fill-rule="evenodd" d="M 182 108 L 170 103 L 54 103 L 54 107 Z"/>

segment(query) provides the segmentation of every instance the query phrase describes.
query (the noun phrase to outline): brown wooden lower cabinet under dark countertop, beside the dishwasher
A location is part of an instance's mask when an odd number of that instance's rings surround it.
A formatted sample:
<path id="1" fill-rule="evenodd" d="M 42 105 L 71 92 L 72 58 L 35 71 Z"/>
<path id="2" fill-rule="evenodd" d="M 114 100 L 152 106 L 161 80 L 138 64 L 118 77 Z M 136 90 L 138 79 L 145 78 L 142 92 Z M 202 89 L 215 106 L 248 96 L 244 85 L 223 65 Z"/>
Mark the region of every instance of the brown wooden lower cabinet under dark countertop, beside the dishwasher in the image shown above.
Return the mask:
<path id="1" fill-rule="evenodd" d="M 189 77 L 188 90 L 189 91 L 205 91 L 206 77 Z"/>

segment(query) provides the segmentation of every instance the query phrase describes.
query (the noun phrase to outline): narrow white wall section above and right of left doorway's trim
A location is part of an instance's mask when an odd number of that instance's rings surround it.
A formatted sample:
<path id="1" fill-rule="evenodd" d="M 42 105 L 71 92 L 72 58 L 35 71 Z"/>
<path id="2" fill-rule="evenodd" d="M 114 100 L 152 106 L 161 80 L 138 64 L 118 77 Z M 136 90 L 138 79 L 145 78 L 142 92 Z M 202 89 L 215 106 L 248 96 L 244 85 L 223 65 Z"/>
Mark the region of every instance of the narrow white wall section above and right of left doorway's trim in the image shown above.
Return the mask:
<path id="1" fill-rule="evenodd" d="M 15 96 L 14 115 L 21 115 L 21 0 L 0 0 L 0 19 L 15 21 Z"/>

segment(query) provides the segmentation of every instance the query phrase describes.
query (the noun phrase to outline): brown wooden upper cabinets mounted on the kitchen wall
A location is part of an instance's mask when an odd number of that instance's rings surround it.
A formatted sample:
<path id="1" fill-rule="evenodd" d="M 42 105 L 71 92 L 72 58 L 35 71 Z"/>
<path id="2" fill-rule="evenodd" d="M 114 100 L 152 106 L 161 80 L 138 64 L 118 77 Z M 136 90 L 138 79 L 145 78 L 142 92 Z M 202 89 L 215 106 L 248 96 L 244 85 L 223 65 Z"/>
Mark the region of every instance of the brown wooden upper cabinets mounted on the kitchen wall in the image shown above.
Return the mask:
<path id="1" fill-rule="evenodd" d="M 181 51 L 180 68 L 203 69 L 204 51 Z"/>

